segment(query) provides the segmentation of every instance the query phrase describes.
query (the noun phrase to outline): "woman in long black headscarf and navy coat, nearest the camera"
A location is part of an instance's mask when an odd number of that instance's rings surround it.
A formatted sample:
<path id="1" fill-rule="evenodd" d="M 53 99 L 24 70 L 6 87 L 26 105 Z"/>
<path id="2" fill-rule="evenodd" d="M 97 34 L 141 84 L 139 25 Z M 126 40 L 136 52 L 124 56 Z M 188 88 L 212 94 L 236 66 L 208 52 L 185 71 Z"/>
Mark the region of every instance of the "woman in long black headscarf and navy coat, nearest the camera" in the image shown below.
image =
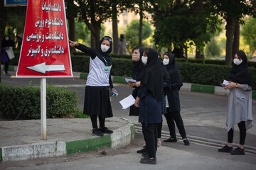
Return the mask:
<path id="1" fill-rule="evenodd" d="M 163 73 L 158 53 L 149 48 L 142 56 L 146 65 L 142 76 L 135 106 L 139 107 L 139 123 L 146 142 L 148 156 L 141 159 L 142 164 L 156 164 L 157 123 L 161 123 L 161 100 L 163 95 Z"/>

